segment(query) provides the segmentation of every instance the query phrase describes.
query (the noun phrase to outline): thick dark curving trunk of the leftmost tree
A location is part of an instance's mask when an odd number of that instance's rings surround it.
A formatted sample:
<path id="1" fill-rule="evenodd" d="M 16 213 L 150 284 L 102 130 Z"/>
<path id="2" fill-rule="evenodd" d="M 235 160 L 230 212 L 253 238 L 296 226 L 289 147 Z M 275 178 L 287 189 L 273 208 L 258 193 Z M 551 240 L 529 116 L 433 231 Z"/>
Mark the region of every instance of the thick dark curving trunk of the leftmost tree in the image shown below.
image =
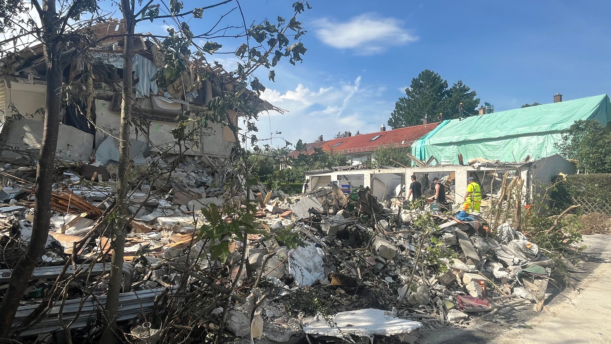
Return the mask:
<path id="1" fill-rule="evenodd" d="M 45 17 L 43 21 L 44 54 L 46 60 L 46 103 L 45 122 L 40 145 L 40 158 L 36 169 L 34 183 L 34 223 L 32 237 L 26 252 L 18 260 L 9 281 L 2 304 L 0 305 L 0 342 L 6 342 L 10 328 L 23 298 L 29 277 L 45 250 L 49 236 L 51 220 L 51 192 L 53 191 L 54 161 L 57 149 L 57 134 L 59 132 L 59 115 L 61 109 L 62 65 L 57 48 L 57 31 L 55 20 L 55 1 L 45 1 Z"/>

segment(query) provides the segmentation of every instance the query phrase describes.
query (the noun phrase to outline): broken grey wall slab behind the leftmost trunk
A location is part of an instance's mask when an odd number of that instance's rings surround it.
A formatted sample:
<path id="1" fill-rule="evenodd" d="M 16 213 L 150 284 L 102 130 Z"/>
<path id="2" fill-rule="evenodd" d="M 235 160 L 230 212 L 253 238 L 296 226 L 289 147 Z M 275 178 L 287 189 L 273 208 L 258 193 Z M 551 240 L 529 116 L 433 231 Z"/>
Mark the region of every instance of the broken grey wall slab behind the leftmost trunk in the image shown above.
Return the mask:
<path id="1" fill-rule="evenodd" d="M 32 119 L 18 119 L 12 123 L 5 146 L 15 150 L 32 152 L 38 154 L 44 122 Z M 83 160 L 89 161 L 93 147 L 93 135 L 78 130 L 73 126 L 59 125 L 59 135 L 57 137 L 57 158 L 68 161 Z M 23 155 L 3 149 L 0 152 L 2 158 L 16 160 Z"/>

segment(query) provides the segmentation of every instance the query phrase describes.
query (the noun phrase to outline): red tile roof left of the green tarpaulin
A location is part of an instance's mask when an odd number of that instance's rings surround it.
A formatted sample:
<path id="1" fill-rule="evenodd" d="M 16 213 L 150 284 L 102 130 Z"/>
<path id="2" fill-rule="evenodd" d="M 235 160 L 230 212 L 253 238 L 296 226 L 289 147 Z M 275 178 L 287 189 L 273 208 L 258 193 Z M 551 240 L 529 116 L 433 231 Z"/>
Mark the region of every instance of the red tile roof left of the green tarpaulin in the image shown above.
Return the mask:
<path id="1" fill-rule="evenodd" d="M 339 153 L 371 152 L 376 148 L 386 146 L 393 148 L 410 147 L 414 141 L 428 134 L 437 125 L 439 123 L 414 125 L 395 130 L 378 131 L 376 133 L 342 137 L 323 142 L 312 142 L 305 145 L 306 149 L 304 151 L 297 152 L 297 150 L 294 150 L 289 156 L 296 158 L 299 154 L 312 154 L 314 152 L 313 148 L 320 147 L 326 152 L 333 151 Z M 376 136 L 379 137 L 373 139 Z"/>

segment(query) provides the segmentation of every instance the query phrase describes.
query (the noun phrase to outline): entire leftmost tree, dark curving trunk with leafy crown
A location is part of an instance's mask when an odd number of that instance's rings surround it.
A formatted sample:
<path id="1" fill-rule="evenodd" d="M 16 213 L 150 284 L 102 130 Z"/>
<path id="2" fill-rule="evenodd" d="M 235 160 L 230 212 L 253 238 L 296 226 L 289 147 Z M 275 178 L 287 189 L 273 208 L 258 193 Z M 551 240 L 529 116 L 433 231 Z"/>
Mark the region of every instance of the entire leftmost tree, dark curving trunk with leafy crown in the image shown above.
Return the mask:
<path id="1" fill-rule="evenodd" d="M 89 13 L 92 18 L 83 20 L 83 13 Z M 57 138 L 62 94 L 65 92 L 62 75 L 71 60 L 83 56 L 94 45 L 92 35 L 82 29 L 103 21 L 104 17 L 99 13 L 96 0 L 9 0 L 0 4 L 0 18 L 0 33 L 10 36 L 0 42 L 0 46 L 9 42 L 16 45 L 20 38 L 33 38 L 43 45 L 46 67 L 45 117 L 34 183 L 32 236 L 26 252 L 13 269 L 15 273 L 0 304 L 0 341 L 4 341 L 9 340 L 15 312 L 49 235 Z M 14 56 L 7 50 L 0 51 L 0 54 L 2 58 Z M 4 64 L 4 67 L 19 68 L 18 63 Z"/>

